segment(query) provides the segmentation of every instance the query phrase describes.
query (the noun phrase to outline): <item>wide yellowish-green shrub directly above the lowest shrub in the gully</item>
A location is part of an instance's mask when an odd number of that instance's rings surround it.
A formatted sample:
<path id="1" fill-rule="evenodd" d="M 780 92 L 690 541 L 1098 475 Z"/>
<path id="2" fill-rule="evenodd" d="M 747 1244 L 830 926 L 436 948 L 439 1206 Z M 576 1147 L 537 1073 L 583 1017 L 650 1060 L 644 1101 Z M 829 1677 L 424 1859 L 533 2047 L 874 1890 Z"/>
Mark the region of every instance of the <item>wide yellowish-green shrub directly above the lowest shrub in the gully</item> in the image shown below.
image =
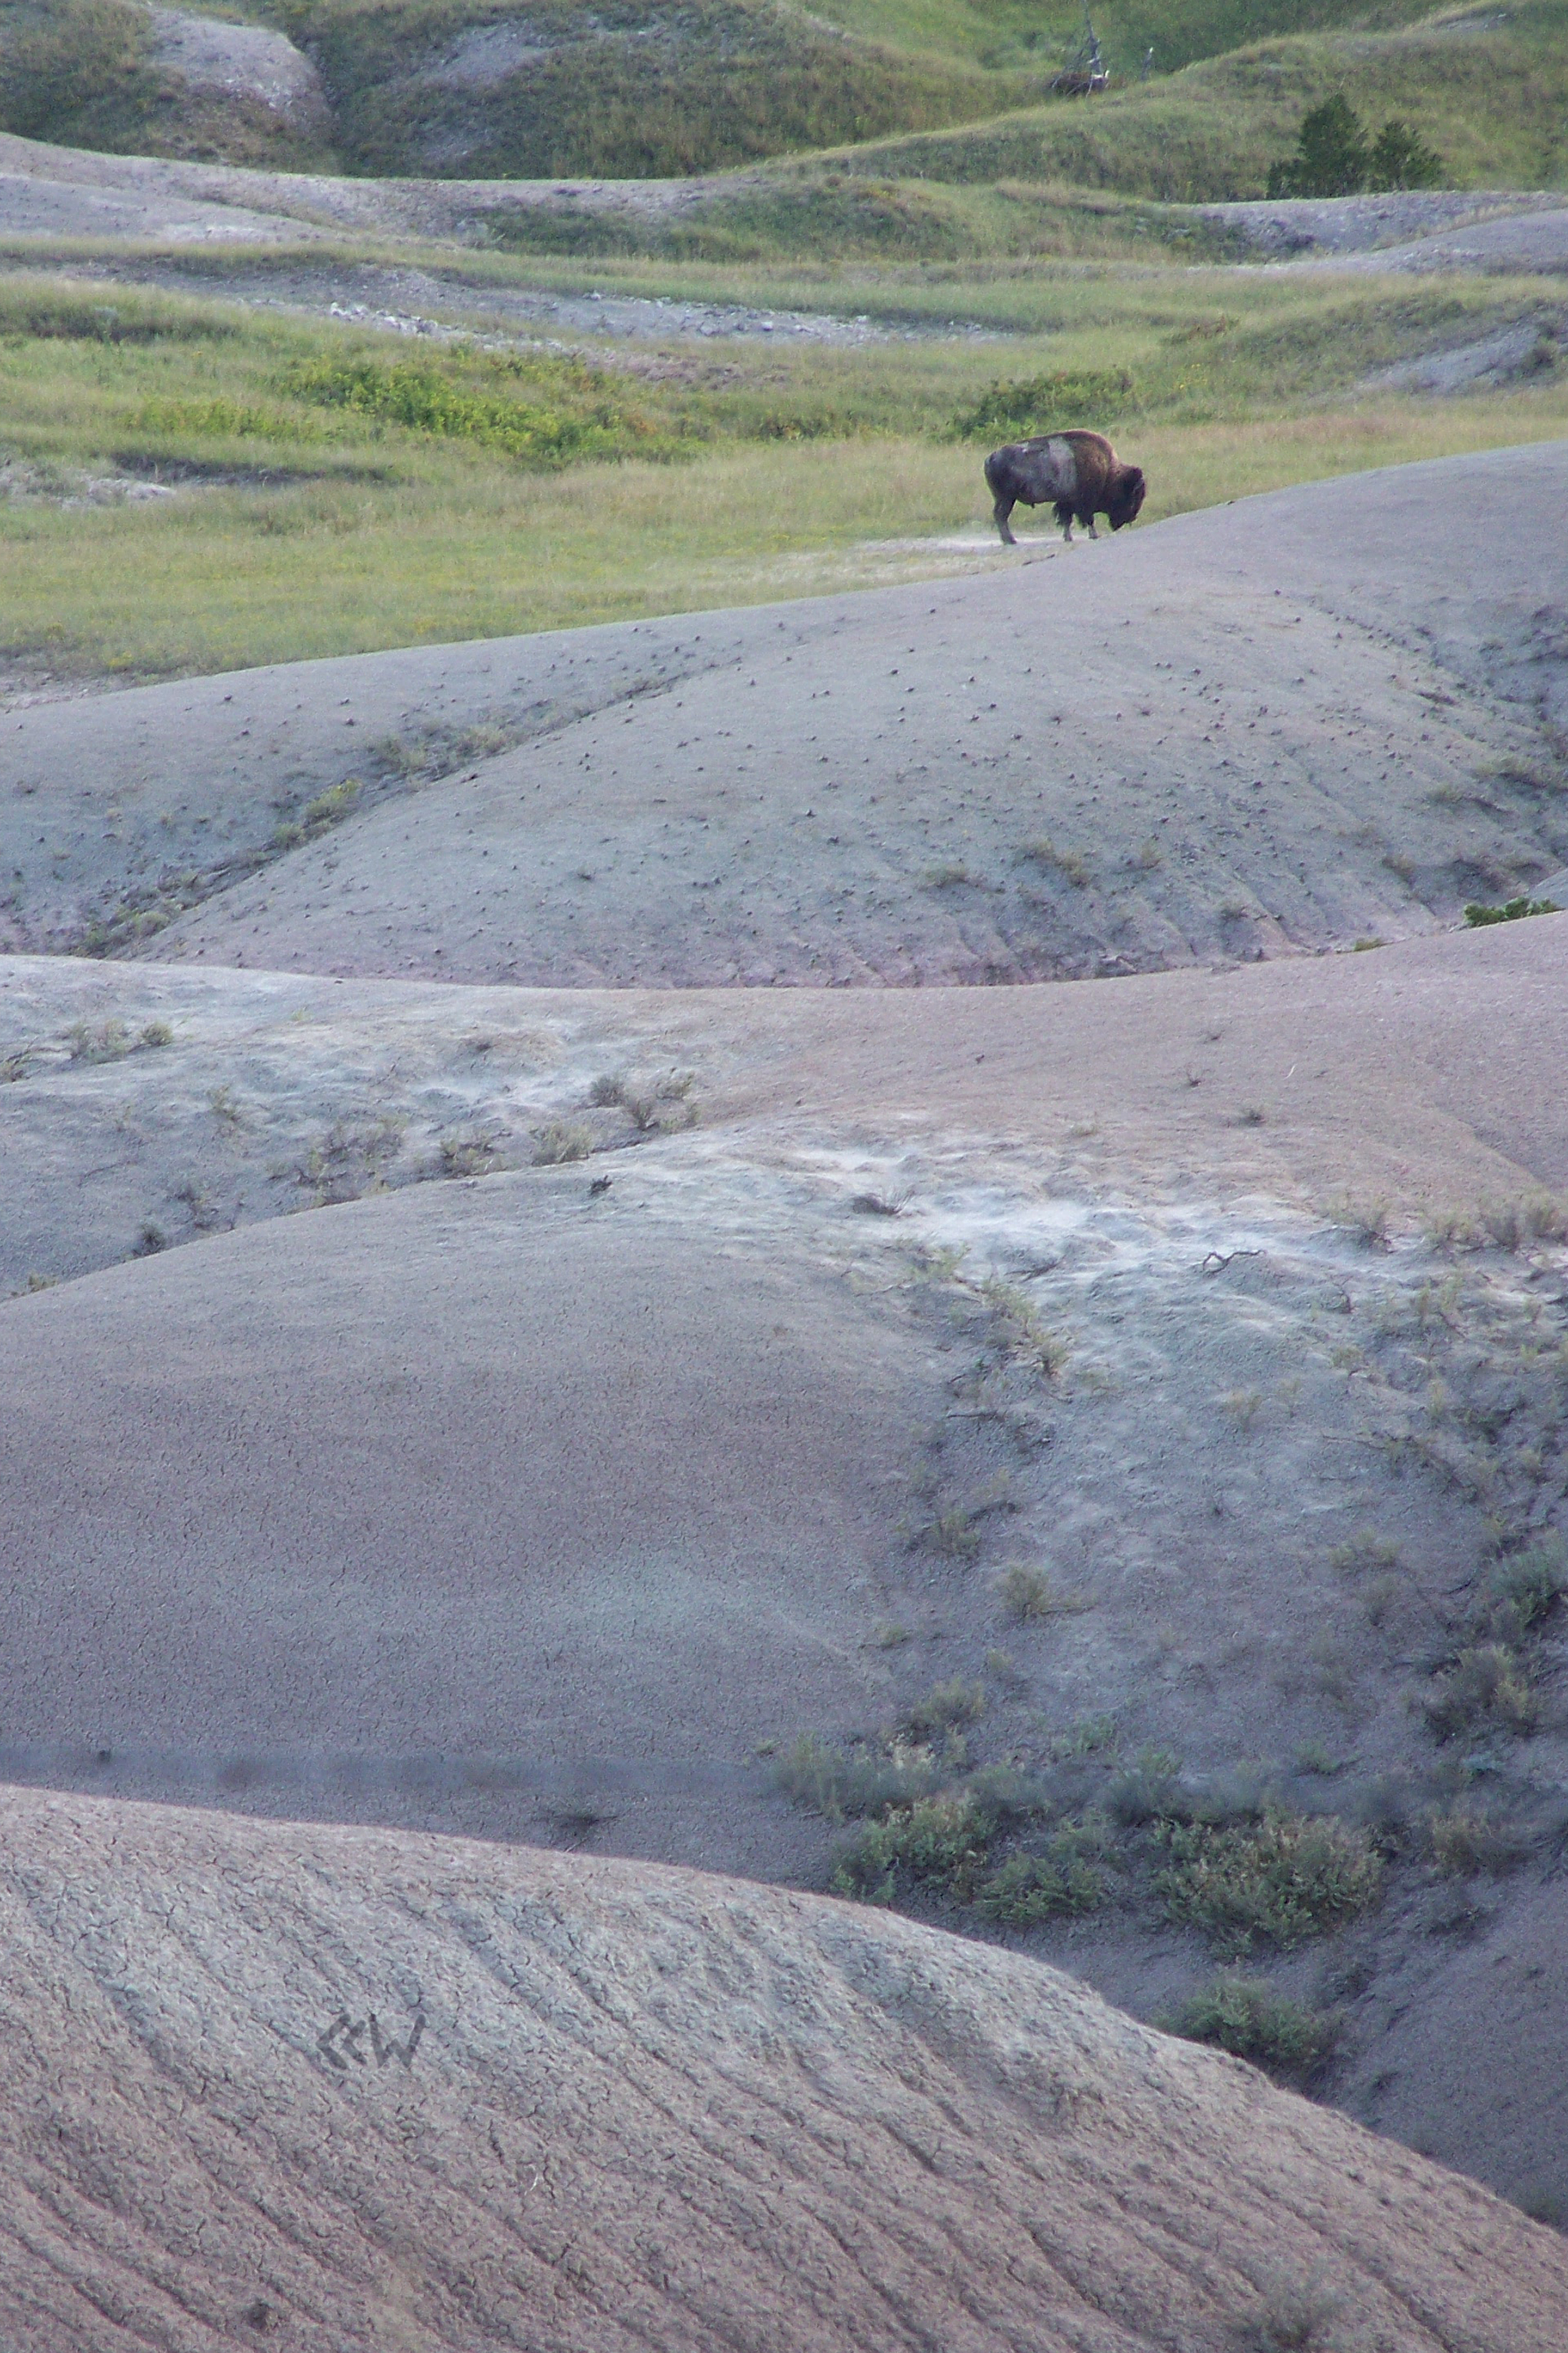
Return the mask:
<path id="1" fill-rule="evenodd" d="M 1168 1918 L 1232 1953 L 1251 1951 L 1258 1937 L 1286 1948 L 1324 1937 L 1382 1892 L 1371 1833 L 1335 1817 L 1269 1807 L 1248 1828 L 1159 1824 L 1157 1835 L 1171 1854 L 1154 1882 Z"/>

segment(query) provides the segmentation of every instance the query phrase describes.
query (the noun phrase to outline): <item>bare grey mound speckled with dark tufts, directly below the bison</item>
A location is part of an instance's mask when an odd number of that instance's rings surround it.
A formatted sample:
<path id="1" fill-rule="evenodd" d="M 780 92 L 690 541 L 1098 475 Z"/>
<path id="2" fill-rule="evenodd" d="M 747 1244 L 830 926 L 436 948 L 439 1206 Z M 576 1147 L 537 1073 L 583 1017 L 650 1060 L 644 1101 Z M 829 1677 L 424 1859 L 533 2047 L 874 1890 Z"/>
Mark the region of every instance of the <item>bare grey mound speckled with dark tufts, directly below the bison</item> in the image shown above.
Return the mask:
<path id="1" fill-rule="evenodd" d="M 1500 449 L 985 581 L 35 706 L 9 944 L 689 988 L 1429 929 L 1568 861 L 1566 485 Z"/>

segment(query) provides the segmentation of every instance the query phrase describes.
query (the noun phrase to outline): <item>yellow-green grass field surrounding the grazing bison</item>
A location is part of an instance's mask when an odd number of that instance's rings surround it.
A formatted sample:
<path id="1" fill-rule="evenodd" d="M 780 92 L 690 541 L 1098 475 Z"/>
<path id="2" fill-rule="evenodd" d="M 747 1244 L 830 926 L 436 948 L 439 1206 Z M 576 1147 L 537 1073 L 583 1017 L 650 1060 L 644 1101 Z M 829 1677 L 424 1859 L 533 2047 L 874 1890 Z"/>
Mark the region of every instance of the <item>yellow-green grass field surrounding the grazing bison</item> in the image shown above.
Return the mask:
<path id="1" fill-rule="evenodd" d="M 1474 400 L 1356 391 L 1403 353 L 1547 315 L 1554 289 L 1528 280 L 1107 266 L 1044 280 L 1011 264 L 959 287 L 917 266 L 802 282 L 625 264 L 607 285 L 715 299 L 766 285 L 776 304 L 966 311 L 1009 332 L 724 344 L 639 353 L 651 367 L 628 374 L 12 275 L 0 654 L 153 678 L 1001 560 L 985 539 L 987 435 L 954 421 L 1013 395 L 1020 424 L 1084 421 L 1098 400 L 1088 421 L 1150 473 L 1150 520 L 1568 431 L 1568 369 L 1552 365 Z M 106 480 L 176 494 L 122 501 L 94 489 Z M 976 546 L 940 544 L 966 532 Z"/>

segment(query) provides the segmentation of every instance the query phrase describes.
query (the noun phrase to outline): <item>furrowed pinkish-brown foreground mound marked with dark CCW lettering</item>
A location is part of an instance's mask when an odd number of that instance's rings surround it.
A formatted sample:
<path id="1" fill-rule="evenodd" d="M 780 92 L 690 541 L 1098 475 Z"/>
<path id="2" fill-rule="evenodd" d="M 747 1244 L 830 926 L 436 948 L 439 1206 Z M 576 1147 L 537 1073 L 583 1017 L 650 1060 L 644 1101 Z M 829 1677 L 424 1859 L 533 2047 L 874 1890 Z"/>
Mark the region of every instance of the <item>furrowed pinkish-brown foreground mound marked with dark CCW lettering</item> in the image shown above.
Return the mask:
<path id="1" fill-rule="evenodd" d="M 689 1873 L 2 1817 L 35 2353 L 1559 2341 L 1552 2233 L 1032 1962 Z"/>

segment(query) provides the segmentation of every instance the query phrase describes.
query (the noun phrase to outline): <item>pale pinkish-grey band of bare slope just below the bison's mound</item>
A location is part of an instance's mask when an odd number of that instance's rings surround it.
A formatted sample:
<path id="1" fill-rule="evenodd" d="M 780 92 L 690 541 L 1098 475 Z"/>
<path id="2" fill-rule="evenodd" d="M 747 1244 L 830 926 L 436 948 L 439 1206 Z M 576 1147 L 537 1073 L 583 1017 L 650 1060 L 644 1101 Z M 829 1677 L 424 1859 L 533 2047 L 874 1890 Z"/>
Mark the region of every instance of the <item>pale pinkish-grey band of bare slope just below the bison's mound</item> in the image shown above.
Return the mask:
<path id="1" fill-rule="evenodd" d="M 1117 988 L 562 993 L 14 955 L 0 1292 L 113 1266 L 148 1224 L 176 1245 L 527 1169 L 552 1129 L 592 1153 L 583 1184 L 820 1153 L 853 1191 L 860 1155 L 1006 1146 L 1086 1195 L 1380 1200 L 1413 1224 L 1568 1193 L 1540 1082 L 1563 1064 L 1568 918 Z M 607 1078 L 646 1092 L 651 1129 L 592 1101 Z"/>

